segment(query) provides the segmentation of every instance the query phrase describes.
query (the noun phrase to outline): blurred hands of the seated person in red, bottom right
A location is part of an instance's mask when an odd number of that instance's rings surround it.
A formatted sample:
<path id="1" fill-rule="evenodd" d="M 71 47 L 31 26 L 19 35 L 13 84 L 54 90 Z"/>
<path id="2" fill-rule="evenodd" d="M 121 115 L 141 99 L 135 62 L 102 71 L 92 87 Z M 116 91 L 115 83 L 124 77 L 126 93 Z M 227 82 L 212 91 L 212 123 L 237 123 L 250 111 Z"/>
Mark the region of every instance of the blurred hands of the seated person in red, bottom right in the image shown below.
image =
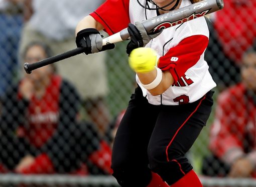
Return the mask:
<path id="1" fill-rule="evenodd" d="M 237 159 L 230 168 L 230 177 L 250 177 L 253 171 L 253 165 L 251 161 L 247 158 Z"/>

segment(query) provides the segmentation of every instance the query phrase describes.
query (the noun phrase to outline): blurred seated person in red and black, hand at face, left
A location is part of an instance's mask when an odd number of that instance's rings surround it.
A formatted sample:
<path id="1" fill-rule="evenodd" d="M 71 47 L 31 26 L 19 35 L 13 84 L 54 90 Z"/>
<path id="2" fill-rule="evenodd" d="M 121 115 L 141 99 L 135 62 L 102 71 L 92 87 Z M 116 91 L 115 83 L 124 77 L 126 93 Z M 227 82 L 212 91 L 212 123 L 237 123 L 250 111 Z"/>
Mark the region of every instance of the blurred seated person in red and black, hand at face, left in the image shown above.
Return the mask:
<path id="1" fill-rule="evenodd" d="M 50 56 L 47 45 L 32 42 L 24 60 Z M 111 172 L 109 145 L 92 124 L 79 120 L 80 96 L 52 64 L 25 74 L 1 104 L 2 172 L 90 174 L 87 165 L 92 164 L 102 173 Z"/>

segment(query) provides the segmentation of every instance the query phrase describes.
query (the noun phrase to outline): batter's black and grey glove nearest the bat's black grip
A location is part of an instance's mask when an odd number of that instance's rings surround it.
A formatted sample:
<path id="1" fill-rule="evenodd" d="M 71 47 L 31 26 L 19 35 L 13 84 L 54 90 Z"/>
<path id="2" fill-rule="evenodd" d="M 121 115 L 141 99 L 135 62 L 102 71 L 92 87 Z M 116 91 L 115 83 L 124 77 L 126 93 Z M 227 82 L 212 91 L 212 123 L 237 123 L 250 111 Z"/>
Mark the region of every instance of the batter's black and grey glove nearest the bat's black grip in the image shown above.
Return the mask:
<path id="1" fill-rule="evenodd" d="M 77 47 L 84 47 L 85 54 L 114 48 L 114 43 L 102 46 L 102 37 L 95 28 L 85 28 L 76 34 Z"/>

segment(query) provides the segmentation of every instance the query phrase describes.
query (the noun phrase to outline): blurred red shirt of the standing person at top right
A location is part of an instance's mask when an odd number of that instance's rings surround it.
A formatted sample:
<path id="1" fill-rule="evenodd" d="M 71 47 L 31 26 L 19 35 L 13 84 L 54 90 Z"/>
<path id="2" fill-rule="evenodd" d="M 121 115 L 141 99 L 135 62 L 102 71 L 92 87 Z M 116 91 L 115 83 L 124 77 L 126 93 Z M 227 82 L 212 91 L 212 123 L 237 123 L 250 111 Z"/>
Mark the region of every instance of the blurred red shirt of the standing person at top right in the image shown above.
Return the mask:
<path id="1" fill-rule="evenodd" d="M 240 64 L 242 54 L 256 35 L 256 1 L 225 0 L 224 3 L 224 8 L 216 12 L 214 27 L 225 54 Z"/>

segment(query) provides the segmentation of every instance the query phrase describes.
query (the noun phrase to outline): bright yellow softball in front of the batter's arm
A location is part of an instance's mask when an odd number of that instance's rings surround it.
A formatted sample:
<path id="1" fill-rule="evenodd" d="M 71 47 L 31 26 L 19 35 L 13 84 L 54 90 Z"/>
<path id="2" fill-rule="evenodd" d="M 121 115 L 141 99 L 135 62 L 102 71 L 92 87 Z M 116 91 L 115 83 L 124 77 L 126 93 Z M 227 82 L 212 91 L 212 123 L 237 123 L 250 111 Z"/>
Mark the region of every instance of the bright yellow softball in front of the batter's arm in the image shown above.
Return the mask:
<path id="1" fill-rule="evenodd" d="M 139 47 L 132 50 L 129 64 L 136 72 L 149 72 L 155 68 L 157 53 L 149 47 Z"/>

